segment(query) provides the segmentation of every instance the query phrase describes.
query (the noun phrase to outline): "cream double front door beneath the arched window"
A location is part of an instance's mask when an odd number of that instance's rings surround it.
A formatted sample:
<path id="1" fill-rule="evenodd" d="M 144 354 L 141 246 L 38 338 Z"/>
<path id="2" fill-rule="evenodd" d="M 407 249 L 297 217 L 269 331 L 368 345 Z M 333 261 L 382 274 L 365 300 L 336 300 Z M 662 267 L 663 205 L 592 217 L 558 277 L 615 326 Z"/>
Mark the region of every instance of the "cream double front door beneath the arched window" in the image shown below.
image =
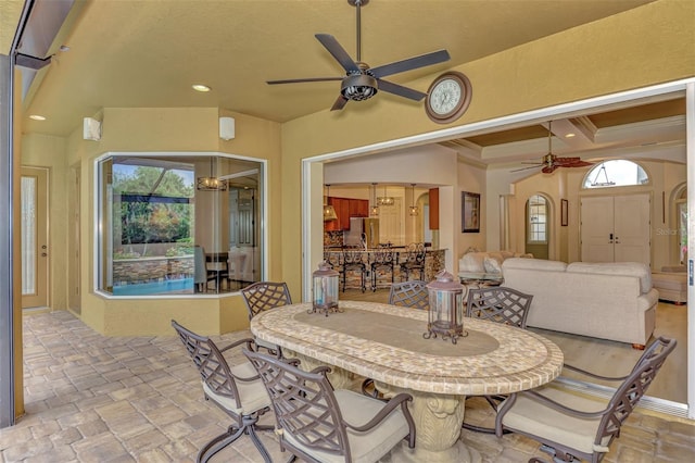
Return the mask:
<path id="1" fill-rule="evenodd" d="M 583 262 L 650 264 L 649 195 L 581 200 Z"/>

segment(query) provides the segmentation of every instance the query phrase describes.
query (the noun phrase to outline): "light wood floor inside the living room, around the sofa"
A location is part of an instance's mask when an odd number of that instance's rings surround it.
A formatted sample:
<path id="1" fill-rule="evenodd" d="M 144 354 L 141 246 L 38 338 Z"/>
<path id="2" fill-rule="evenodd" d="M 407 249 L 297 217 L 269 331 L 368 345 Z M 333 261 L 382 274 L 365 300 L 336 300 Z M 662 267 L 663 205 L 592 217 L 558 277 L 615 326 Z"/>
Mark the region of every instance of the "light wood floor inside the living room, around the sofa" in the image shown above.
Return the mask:
<path id="1" fill-rule="evenodd" d="M 364 293 L 358 289 L 346 289 L 341 299 L 388 302 L 389 289 L 370 290 Z M 565 353 L 565 363 L 587 370 L 603 376 L 622 376 L 630 373 L 642 351 L 631 345 L 569 335 L 546 329 L 529 328 L 557 343 Z M 687 305 L 659 302 L 656 312 L 655 337 L 675 338 L 678 346 L 669 356 L 650 386 L 647 396 L 678 404 L 687 402 Z M 566 371 L 563 376 L 585 380 L 580 375 Z M 605 383 L 604 386 L 615 387 Z"/>

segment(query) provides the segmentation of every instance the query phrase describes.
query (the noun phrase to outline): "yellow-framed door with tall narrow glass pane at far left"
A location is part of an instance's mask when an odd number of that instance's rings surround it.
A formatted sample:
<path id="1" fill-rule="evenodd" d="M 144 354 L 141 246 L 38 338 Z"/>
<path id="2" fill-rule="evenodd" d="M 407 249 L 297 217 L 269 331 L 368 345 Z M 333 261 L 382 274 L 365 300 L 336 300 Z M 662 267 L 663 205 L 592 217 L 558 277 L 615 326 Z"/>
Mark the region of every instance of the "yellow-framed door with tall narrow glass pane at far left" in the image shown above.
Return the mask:
<path id="1" fill-rule="evenodd" d="M 48 170 L 22 167 L 22 308 L 48 306 Z"/>

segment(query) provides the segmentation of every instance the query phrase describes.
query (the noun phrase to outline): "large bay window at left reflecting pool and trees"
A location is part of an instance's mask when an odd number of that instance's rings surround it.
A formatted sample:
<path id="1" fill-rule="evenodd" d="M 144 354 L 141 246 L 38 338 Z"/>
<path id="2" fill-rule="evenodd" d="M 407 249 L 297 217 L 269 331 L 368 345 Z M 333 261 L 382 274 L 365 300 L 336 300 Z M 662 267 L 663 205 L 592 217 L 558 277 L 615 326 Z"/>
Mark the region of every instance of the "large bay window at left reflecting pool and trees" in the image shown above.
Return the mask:
<path id="1" fill-rule="evenodd" d="M 111 296 L 237 291 L 261 280 L 263 162 L 118 153 L 97 162 L 97 289 Z"/>

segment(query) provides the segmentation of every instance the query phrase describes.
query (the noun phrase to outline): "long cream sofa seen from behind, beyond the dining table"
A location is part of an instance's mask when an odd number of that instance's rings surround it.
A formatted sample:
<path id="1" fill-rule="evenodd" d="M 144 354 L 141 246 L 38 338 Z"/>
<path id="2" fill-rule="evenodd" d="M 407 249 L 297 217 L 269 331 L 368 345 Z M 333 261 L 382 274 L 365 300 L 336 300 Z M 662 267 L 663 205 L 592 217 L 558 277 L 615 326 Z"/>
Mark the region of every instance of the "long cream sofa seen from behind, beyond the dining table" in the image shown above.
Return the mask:
<path id="1" fill-rule="evenodd" d="M 507 259 L 503 286 L 533 295 L 528 326 L 645 346 L 659 293 L 636 262 Z"/>

